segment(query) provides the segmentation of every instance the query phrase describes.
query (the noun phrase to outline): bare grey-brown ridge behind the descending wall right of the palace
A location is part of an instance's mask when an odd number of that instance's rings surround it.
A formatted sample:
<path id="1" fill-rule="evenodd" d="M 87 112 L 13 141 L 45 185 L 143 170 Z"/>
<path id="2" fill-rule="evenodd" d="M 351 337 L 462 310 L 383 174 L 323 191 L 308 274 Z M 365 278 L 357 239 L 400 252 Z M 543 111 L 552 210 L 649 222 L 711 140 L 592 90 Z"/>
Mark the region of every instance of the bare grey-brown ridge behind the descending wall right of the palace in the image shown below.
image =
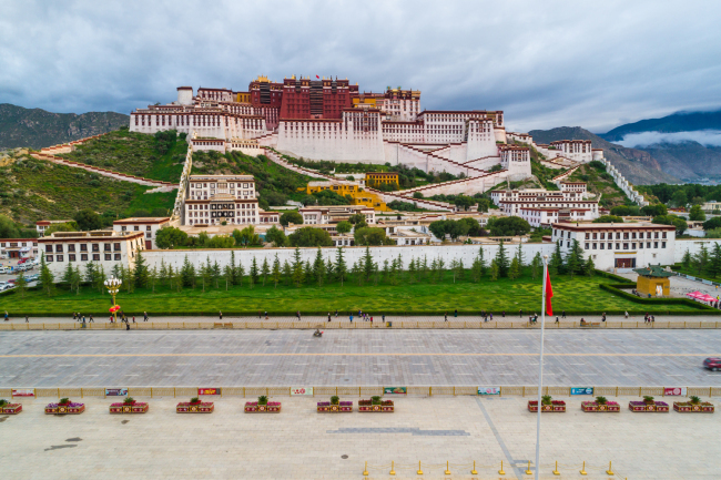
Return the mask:
<path id="1" fill-rule="evenodd" d="M 590 140 L 593 149 L 603 149 L 606 159 L 616 166 L 621 174 L 637 185 L 656 183 L 679 183 L 674 176 L 666 173 L 653 156 L 638 149 L 627 149 L 607 142 L 595 133 L 580 126 L 559 126 L 551 130 L 531 130 L 528 132 L 536 143 L 551 143 L 557 140 Z"/>

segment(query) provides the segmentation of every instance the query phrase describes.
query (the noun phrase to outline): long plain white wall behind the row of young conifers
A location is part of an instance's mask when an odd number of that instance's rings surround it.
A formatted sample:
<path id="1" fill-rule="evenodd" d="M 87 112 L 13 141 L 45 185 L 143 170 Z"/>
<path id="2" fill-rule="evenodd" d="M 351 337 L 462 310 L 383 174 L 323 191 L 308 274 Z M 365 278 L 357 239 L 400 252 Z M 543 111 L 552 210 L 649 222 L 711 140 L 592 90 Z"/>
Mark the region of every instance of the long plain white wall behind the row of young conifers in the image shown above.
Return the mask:
<path id="1" fill-rule="evenodd" d="M 524 252 L 524 257 L 526 263 L 530 263 L 536 253 L 541 255 L 550 255 L 554 253 L 555 244 L 544 243 L 544 244 L 521 244 Z M 459 259 L 463 262 L 466 268 L 470 268 L 474 258 L 478 255 L 478 249 L 481 248 L 479 245 L 415 245 L 415 246 L 380 246 L 380 247 L 369 247 L 370 255 L 373 256 L 374 262 L 377 262 L 383 266 L 384 261 L 390 262 L 394 258 L 397 258 L 400 255 L 403 261 L 404 269 L 408 267 L 408 264 L 413 258 L 422 258 L 425 256 L 428 259 L 428 264 L 433 262 L 434 258 L 443 258 L 446 263 L 446 267 L 454 259 Z M 505 245 L 505 248 L 508 253 L 508 257 L 512 257 L 518 248 L 516 245 Z M 323 247 L 321 252 L 324 259 L 331 258 L 335 264 L 336 258 L 336 247 Z M 486 259 L 486 265 L 490 264 L 490 261 L 496 256 L 498 252 L 498 245 L 483 246 L 484 258 Z M 317 247 L 307 247 L 301 248 L 301 258 L 309 261 L 311 264 L 315 261 L 317 254 Z M 353 266 L 354 263 L 363 258 L 365 255 L 366 247 L 343 247 L 343 257 L 348 266 L 348 269 Z M 173 249 L 173 251 L 144 251 L 143 257 L 148 261 L 148 266 L 152 268 L 153 266 L 160 268 L 161 259 L 165 262 L 165 265 L 173 265 L 173 268 L 180 268 L 183 266 L 185 256 L 187 259 L 199 268 L 201 264 L 206 262 L 206 258 L 211 259 L 211 263 L 217 261 L 221 267 L 230 265 L 231 252 L 235 252 L 235 262 L 242 263 L 245 272 L 247 273 L 255 258 L 258 268 L 263 265 L 263 261 L 267 259 L 268 265 L 273 265 L 275 255 L 277 254 L 278 261 L 283 264 L 285 261 L 293 263 L 295 249 L 294 248 L 234 248 L 234 249 Z"/>

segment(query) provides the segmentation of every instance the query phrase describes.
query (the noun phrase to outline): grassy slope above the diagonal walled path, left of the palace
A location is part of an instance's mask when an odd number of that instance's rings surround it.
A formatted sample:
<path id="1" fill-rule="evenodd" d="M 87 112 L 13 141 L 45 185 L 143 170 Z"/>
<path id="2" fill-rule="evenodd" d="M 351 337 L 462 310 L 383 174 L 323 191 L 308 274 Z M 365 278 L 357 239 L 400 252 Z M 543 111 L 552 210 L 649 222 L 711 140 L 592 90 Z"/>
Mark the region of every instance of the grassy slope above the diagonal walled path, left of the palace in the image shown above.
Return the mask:
<path id="1" fill-rule="evenodd" d="M 74 162 L 130 173 L 151 180 L 180 182 L 187 143 L 176 140 L 164 155 L 153 135 L 116 130 L 60 155 Z"/>

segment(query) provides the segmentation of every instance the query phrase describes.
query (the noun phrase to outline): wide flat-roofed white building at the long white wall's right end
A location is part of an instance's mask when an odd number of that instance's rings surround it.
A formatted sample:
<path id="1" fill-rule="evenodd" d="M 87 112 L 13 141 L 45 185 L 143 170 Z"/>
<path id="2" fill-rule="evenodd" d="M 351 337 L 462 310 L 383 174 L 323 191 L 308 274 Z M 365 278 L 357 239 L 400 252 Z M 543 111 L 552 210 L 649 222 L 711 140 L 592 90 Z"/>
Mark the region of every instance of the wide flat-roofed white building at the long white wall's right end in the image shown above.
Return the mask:
<path id="1" fill-rule="evenodd" d="M 551 239 L 567 254 L 573 241 L 593 258 L 596 268 L 643 268 L 653 264 L 672 265 L 676 253 L 676 227 L 642 223 L 556 223 Z"/>

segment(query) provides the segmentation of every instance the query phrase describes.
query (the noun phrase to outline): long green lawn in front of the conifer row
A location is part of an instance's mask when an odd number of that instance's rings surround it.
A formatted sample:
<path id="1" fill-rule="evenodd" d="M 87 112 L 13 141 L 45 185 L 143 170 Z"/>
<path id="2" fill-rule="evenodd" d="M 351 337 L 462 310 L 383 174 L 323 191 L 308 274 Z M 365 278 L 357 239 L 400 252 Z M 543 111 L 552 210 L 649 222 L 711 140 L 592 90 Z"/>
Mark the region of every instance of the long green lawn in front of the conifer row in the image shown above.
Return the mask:
<path id="1" fill-rule="evenodd" d="M 618 280 L 596 277 L 556 276 L 554 280 L 554 308 L 558 313 L 561 309 L 579 314 L 607 314 L 629 313 L 643 314 L 646 312 L 661 315 L 666 313 L 699 313 L 698 308 L 689 305 L 646 305 L 630 302 L 621 296 L 602 290 L 599 284 L 618 284 Z M 294 314 L 301 310 L 304 314 L 325 314 L 334 312 L 348 313 L 364 312 L 380 315 L 402 314 L 433 314 L 443 315 L 444 312 L 451 313 L 458 309 L 459 313 L 477 315 L 480 310 L 492 312 L 496 316 L 501 310 L 508 315 L 518 315 L 522 308 L 527 315 L 529 312 L 540 314 L 541 306 L 540 280 L 532 280 L 525 276 L 518 280 L 500 279 L 491 282 L 484 278 L 476 284 L 469 280 L 453 283 L 448 273 L 443 283 L 431 284 L 427 280 L 409 284 L 404 279 L 400 285 L 392 286 L 379 284 L 374 286 L 366 284 L 358 286 L 356 283 L 346 282 L 342 287 L 333 283 L 322 288 L 317 286 L 293 286 L 273 285 L 262 286 L 256 284 L 253 289 L 244 285 L 231 287 L 230 290 L 211 288 L 202 293 L 200 287 L 195 289 L 184 288 L 181 293 L 169 292 L 167 288 L 156 288 L 153 294 L 150 290 L 136 290 L 128 294 L 121 292 L 118 295 L 118 303 L 126 314 L 139 315 L 148 312 L 153 315 L 194 315 L 215 314 L 222 309 L 224 314 L 255 314 L 258 310 L 267 310 L 273 314 Z M 52 316 L 70 315 L 71 312 L 83 314 L 105 315 L 110 306 L 110 297 L 92 292 L 89 287 L 81 289 L 80 295 L 71 294 L 59 289 L 55 295 L 48 297 L 41 292 L 28 292 L 24 298 L 18 293 L 0 296 L 0 310 L 8 309 L 12 316 L 33 315 Z"/>

